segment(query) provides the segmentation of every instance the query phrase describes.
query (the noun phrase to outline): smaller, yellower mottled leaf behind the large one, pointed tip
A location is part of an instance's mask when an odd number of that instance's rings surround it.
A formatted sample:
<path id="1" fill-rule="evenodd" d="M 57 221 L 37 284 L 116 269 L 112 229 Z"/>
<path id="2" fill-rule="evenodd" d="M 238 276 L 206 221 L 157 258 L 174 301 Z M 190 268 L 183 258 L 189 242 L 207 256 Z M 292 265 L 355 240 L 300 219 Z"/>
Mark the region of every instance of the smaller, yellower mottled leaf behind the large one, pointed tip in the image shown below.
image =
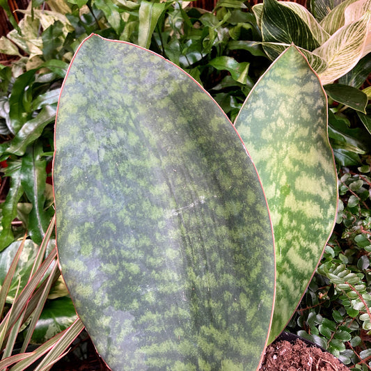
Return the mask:
<path id="1" fill-rule="evenodd" d="M 335 223 L 337 177 L 326 109 L 317 75 L 292 46 L 251 90 L 235 123 L 274 228 L 277 293 L 269 340 L 297 308 Z"/>

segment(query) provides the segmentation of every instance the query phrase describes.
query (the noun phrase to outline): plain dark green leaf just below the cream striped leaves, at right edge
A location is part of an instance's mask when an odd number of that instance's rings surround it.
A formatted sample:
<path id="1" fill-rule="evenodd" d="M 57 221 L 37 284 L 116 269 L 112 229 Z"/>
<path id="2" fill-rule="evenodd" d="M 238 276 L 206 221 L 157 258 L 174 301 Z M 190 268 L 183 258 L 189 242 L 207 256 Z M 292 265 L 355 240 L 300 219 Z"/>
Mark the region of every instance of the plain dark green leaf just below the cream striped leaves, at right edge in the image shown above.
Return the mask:
<path id="1" fill-rule="evenodd" d="M 349 106 L 356 111 L 366 113 L 368 96 L 361 90 L 343 84 L 329 84 L 324 86 L 324 90 L 335 102 Z"/>

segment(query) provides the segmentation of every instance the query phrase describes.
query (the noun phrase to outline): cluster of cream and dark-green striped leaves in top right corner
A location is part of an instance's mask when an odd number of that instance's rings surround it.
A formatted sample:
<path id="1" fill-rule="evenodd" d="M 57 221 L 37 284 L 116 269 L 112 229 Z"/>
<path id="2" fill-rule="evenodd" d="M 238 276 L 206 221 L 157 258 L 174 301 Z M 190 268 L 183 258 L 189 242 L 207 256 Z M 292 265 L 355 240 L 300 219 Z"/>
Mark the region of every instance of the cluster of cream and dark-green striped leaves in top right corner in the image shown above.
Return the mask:
<path id="1" fill-rule="evenodd" d="M 253 6 L 262 45 L 271 60 L 294 44 L 308 58 L 322 84 L 352 70 L 371 49 L 371 0 L 347 0 L 318 23 L 306 8 L 290 1 L 265 0 Z"/>

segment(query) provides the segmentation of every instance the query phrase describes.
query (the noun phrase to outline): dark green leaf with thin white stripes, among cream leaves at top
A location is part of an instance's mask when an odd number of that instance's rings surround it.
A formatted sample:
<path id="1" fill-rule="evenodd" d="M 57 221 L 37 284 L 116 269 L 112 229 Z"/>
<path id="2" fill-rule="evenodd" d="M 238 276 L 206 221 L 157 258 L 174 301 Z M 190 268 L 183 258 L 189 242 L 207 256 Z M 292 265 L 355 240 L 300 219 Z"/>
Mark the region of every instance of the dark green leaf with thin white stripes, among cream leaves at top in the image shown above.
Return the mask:
<path id="1" fill-rule="evenodd" d="M 310 52 L 319 47 L 310 26 L 291 8 L 277 0 L 265 0 L 261 19 L 262 40 L 294 44 Z"/>

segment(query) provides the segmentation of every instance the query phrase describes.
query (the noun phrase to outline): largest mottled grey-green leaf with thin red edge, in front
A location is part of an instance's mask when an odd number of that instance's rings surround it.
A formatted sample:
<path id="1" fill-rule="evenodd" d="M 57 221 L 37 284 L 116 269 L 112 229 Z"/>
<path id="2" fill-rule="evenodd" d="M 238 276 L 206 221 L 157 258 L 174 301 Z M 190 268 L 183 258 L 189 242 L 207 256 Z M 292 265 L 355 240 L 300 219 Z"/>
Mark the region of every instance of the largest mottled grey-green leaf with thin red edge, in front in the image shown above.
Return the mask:
<path id="1" fill-rule="evenodd" d="M 260 180 L 188 74 L 90 35 L 56 120 L 58 258 L 112 370 L 255 370 L 274 304 Z"/>

